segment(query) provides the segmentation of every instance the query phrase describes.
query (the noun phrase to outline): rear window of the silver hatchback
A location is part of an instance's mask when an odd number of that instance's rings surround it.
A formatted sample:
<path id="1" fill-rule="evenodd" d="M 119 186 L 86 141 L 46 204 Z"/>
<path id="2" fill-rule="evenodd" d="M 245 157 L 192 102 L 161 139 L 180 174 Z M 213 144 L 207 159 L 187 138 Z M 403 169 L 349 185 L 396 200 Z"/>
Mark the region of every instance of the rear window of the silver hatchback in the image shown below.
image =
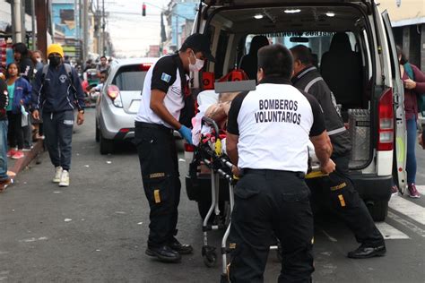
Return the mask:
<path id="1" fill-rule="evenodd" d="M 143 90 L 144 77 L 146 70 L 139 64 L 126 65 L 119 68 L 112 84 L 115 84 L 119 90 Z"/>

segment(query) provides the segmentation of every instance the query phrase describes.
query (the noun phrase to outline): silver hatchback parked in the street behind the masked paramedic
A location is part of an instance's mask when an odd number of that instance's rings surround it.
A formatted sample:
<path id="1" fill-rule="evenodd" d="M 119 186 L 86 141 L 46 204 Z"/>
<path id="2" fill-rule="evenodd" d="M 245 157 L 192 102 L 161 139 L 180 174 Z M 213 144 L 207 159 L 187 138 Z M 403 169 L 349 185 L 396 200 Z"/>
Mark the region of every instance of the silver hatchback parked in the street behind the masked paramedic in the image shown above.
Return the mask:
<path id="1" fill-rule="evenodd" d="M 100 153 L 114 150 L 114 142 L 134 138 L 134 117 L 139 110 L 144 77 L 158 58 L 114 61 L 96 101 L 96 142 Z"/>

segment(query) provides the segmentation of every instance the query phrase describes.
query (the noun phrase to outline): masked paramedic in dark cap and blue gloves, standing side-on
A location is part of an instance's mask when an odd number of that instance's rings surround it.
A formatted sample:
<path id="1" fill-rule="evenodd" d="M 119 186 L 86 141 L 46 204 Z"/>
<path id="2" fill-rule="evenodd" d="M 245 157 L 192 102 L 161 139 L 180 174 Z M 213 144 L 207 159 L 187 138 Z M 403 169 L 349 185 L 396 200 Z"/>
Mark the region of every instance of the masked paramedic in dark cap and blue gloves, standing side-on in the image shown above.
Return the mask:
<path id="1" fill-rule="evenodd" d="M 146 74 L 135 118 L 134 142 L 144 193 L 151 207 L 145 253 L 162 262 L 180 262 L 180 254 L 193 251 L 191 245 L 180 244 L 176 238 L 181 184 L 173 132 L 177 130 L 186 142 L 192 143 L 191 130 L 179 118 L 185 96 L 190 96 L 188 74 L 199 72 L 205 59 L 214 60 L 210 41 L 202 34 L 189 36 L 178 53 L 161 57 Z"/>

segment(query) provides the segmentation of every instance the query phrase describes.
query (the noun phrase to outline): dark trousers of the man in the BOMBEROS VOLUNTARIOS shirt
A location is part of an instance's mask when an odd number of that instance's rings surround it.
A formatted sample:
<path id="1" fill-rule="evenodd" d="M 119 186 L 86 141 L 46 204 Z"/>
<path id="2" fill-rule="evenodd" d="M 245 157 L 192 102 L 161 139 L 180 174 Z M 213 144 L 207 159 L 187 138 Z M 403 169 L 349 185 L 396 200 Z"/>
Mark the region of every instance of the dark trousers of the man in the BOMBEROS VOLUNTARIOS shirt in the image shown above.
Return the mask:
<path id="1" fill-rule="evenodd" d="M 244 170 L 231 215 L 231 282 L 263 282 L 273 236 L 282 244 L 279 282 L 310 282 L 313 214 L 303 174 Z"/>

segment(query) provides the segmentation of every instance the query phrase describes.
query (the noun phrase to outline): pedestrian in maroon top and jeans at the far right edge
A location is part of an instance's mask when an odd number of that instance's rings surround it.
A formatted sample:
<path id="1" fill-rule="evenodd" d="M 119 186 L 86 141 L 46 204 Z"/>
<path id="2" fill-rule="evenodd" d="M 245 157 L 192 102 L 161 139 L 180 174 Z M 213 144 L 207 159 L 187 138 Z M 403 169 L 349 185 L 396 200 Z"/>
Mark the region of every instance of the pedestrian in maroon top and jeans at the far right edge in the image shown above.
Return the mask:
<path id="1" fill-rule="evenodd" d="M 397 56 L 400 63 L 400 74 L 402 75 L 404 86 L 404 112 L 407 129 L 407 151 L 406 151 L 406 173 L 407 190 L 411 198 L 419 199 L 421 194 L 416 189 L 416 135 L 418 120 L 418 99 L 425 95 L 425 74 L 409 63 L 401 47 L 397 47 Z M 392 191 L 398 192 L 396 185 Z"/>

